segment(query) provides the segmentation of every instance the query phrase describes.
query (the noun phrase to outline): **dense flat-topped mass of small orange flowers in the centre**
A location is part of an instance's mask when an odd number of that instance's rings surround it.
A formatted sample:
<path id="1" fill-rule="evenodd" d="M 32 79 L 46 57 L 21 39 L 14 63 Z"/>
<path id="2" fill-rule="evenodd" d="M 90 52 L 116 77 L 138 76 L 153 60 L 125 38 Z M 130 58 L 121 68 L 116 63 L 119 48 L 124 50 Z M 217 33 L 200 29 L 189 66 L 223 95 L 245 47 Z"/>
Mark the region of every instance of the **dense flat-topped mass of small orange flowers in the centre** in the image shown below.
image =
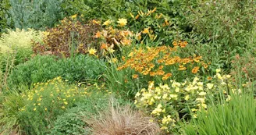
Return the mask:
<path id="1" fill-rule="evenodd" d="M 201 61 L 202 57 L 180 58 L 175 55 L 177 48 L 179 47 L 160 46 L 148 48 L 148 50 L 141 48 L 134 50 L 129 55 L 130 59 L 127 59 L 122 66 L 119 66 L 118 70 L 130 67 L 144 76 L 161 76 L 162 80 L 168 80 L 172 76 L 170 69 L 175 66 L 180 71 L 190 68 L 192 73 L 197 73 L 200 69 L 199 65 L 204 63 Z M 137 75 L 133 75 L 133 78 L 137 77 Z"/>

